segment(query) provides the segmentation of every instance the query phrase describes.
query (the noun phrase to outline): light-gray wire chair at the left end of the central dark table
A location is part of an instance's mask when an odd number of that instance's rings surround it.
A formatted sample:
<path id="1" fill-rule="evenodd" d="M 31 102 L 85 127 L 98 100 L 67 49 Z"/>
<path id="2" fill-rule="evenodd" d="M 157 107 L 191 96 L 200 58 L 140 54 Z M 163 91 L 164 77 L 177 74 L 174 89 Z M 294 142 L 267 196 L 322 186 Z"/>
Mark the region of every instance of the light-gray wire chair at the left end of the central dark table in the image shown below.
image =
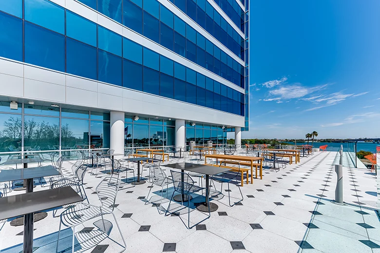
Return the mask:
<path id="1" fill-rule="evenodd" d="M 148 197 L 152 191 L 153 185 L 161 187 L 161 198 L 160 198 L 159 203 L 156 203 L 157 201 L 154 201 L 154 202 L 150 201 L 150 203 L 158 205 L 159 206 L 158 213 L 163 214 L 163 212 L 161 212 L 162 200 L 165 198 L 168 198 L 169 185 L 172 184 L 173 181 L 171 180 L 171 178 L 168 178 L 166 176 L 166 173 L 161 169 L 160 166 L 151 164 L 151 166 L 149 167 L 149 170 L 150 170 L 150 175 L 151 175 L 150 180 L 152 181 L 152 186 L 150 187 L 148 195 L 145 198 L 145 204 L 147 204 L 147 202 L 148 202 Z M 166 186 L 166 197 L 165 198 L 164 198 L 164 186 Z"/>

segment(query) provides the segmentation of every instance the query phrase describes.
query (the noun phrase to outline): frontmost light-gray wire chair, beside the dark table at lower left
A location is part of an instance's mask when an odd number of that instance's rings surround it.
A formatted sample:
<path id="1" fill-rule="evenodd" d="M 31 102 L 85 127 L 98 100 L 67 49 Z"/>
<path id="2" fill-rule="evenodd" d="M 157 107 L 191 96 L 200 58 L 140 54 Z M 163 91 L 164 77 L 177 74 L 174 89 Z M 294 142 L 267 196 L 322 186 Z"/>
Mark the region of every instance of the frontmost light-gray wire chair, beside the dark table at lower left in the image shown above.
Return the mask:
<path id="1" fill-rule="evenodd" d="M 101 203 L 100 206 L 95 206 L 87 203 L 77 203 L 75 206 L 65 210 L 60 215 L 59 230 L 58 230 L 58 239 L 57 239 L 57 248 L 58 252 L 58 243 L 59 243 L 59 234 L 61 231 L 61 225 L 63 224 L 66 227 L 71 227 L 73 229 L 73 243 L 72 243 L 72 252 L 74 253 L 75 247 L 75 227 L 83 224 L 91 219 L 101 217 L 101 230 L 106 232 L 109 228 L 106 226 L 107 220 L 104 219 L 104 215 L 112 215 L 114 217 L 117 229 L 119 230 L 120 236 L 123 240 L 123 249 L 118 253 L 121 253 L 126 250 L 127 244 L 123 234 L 121 233 L 119 224 L 117 223 L 116 217 L 114 215 L 114 204 L 117 196 L 117 192 L 120 186 L 121 180 L 113 177 L 104 178 L 95 188 L 96 194 Z M 77 232 L 80 233 L 80 232 Z"/>

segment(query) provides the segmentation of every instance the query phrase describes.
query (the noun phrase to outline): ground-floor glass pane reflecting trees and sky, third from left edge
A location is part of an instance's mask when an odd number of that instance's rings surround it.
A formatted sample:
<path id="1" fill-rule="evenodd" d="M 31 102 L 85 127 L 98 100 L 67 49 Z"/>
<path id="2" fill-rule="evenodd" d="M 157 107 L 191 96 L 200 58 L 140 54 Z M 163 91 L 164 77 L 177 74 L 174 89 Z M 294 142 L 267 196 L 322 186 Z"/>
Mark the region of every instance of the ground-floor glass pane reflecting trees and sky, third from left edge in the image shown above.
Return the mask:
<path id="1" fill-rule="evenodd" d="M 88 149 L 88 120 L 62 118 L 61 149 Z"/>

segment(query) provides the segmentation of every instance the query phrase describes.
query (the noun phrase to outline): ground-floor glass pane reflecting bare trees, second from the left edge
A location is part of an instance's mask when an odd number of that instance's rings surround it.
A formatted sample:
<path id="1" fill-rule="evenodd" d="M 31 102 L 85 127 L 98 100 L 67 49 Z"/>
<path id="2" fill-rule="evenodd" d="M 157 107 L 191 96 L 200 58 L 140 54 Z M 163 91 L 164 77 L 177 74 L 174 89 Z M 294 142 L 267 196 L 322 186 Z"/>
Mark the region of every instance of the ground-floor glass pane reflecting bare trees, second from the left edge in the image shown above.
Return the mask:
<path id="1" fill-rule="evenodd" d="M 59 118 L 24 116 L 24 151 L 38 150 L 59 150 Z"/>

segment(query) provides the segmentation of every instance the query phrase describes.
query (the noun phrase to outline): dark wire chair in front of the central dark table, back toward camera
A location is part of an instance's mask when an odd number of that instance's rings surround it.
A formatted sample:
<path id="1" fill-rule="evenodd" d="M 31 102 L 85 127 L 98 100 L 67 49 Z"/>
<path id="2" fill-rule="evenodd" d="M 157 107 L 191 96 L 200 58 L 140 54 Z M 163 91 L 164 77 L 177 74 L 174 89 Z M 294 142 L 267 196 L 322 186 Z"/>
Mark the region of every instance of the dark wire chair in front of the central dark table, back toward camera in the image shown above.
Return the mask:
<path id="1" fill-rule="evenodd" d="M 191 228 L 195 227 L 196 225 L 200 224 L 201 222 L 205 221 L 206 219 L 209 219 L 211 216 L 210 208 L 209 208 L 209 213 L 205 219 L 202 219 L 201 221 L 197 222 L 196 224 L 190 226 L 190 195 L 193 193 L 196 193 L 198 191 L 201 191 L 201 190 L 206 190 L 206 188 L 195 186 L 194 180 L 192 180 L 192 178 L 189 176 L 188 173 L 180 172 L 180 171 L 174 171 L 174 170 L 170 170 L 170 173 L 171 173 L 171 178 L 173 180 L 174 191 L 173 191 L 173 194 L 171 195 L 171 199 L 169 202 L 168 209 L 165 212 L 165 216 L 168 216 L 169 214 L 178 215 L 180 210 L 188 208 L 188 224 L 186 224 L 181 219 L 182 222 L 185 224 L 187 229 L 191 229 Z M 171 206 L 171 202 L 172 202 L 173 197 L 174 197 L 174 193 L 179 193 L 181 195 L 181 204 L 183 207 L 181 207 L 179 209 L 176 208 L 176 209 L 174 209 L 175 211 L 172 212 L 170 209 L 170 206 Z M 183 202 L 184 202 L 183 197 L 185 197 L 185 196 L 187 197 L 187 200 L 188 200 L 187 206 L 184 206 L 184 204 L 183 204 Z M 181 218 L 181 216 L 179 216 L 179 217 Z"/>

